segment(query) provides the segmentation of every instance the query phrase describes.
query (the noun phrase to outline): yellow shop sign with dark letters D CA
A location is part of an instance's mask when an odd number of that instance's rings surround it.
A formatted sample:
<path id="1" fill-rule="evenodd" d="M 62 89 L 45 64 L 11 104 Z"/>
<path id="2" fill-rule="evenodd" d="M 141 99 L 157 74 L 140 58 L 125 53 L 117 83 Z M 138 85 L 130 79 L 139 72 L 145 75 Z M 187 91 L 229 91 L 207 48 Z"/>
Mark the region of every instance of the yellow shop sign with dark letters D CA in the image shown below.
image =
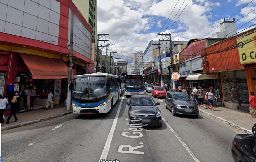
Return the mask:
<path id="1" fill-rule="evenodd" d="M 241 64 L 251 64 L 256 62 L 256 33 L 237 39 L 237 43 L 242 48 L 239 50 Z"/>

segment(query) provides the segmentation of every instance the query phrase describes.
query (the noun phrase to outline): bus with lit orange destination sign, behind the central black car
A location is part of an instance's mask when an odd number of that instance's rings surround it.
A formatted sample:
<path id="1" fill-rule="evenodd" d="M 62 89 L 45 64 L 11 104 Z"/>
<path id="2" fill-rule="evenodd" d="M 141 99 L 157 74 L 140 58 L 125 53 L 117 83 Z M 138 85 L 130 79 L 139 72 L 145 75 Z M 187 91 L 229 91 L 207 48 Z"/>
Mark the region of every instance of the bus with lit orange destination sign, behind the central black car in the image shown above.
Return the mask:
<path id="1" fill-rule="evenodd" d="M 136 94 L 144 94 L 143 76 L 142 75 L 126 75 L 125 76 L 125 96 Z"/>

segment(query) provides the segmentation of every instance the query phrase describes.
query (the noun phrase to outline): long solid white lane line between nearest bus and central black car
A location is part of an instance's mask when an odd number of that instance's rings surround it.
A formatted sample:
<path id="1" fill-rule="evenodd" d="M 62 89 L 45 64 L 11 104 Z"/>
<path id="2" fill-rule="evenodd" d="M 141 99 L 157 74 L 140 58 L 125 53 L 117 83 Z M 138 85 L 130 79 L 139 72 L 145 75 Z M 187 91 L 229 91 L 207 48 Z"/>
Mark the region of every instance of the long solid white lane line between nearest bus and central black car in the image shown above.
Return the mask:
<path id="1" fill-rule="evenodd" d="M 110 144 L 111 144 L 111 141 L 112 141 L 112 138 L 113 138 L 113 134 L 114 134 L 114 131 L 115 131 L 115 128 L 116 128 L 116 125 L 117 125 L 117 119 L 118 119 L 118 116 L 120 114 L 120 109 L 121 109 L 123 100 L 124 100 L 124 96 L 122 97 L 122 101 L 119 104 L 116 117 L 115 117 L 115 119 L 113 121 L 112 127 L 110 129 L 109 134 L 108 134 L 108 139 L 107 139 L 107 141 L 105 143 L 104 149 L 103 149 L 102 154 L 101 154 L 100 159 L 99 159 L 99 162 L 100 162 L 101 159 L 107 159 L 108 151 L 109 151 Z"/>

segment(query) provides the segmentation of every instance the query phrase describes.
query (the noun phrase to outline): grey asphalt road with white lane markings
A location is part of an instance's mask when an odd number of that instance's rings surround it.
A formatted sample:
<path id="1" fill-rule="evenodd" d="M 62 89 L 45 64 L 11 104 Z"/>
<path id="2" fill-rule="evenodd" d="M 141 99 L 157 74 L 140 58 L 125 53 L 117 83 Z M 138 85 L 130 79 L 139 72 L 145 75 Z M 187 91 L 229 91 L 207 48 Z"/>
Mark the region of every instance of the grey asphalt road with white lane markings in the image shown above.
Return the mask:
<path id="1" fill-rule="evenodd" d="M 233 137 L 243 132 L 202 113 L 198 118 L 174 117 L 165 109 L 164 99 L 155 99 L 161 103 L 159 109 L 163 125 L 146 127 L 132 134 L 135 131 L 128 130 L 130 127 L 125 120 L 128 114 L 128 106 L 125 103 L 128 100 L 126 97 L 120 98 L 110 114 L 70 114 L 2 131 L 2 161 L 233 161 L 230 152 Z"/>

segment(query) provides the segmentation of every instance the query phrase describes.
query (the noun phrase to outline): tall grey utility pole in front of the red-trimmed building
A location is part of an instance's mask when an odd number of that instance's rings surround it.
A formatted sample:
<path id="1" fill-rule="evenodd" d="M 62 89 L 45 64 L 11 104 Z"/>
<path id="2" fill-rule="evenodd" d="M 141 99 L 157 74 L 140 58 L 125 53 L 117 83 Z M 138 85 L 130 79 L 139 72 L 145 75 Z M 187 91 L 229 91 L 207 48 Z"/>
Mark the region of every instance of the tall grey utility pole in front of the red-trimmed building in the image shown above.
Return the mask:
<path id="1" fill-rule="evenodd" d="M 74 13 L 71 12 L 71 29 L 70 29 L 70 50 L 69 50 L 69 66 L 68 66 L 68 94 L 67 94 L 67 110 L 70 110 L 71 106 L 71 89 L 69 85 L 72 79 L 72 59 L 73 59 L 73 22 L 74 22 Z"/>

